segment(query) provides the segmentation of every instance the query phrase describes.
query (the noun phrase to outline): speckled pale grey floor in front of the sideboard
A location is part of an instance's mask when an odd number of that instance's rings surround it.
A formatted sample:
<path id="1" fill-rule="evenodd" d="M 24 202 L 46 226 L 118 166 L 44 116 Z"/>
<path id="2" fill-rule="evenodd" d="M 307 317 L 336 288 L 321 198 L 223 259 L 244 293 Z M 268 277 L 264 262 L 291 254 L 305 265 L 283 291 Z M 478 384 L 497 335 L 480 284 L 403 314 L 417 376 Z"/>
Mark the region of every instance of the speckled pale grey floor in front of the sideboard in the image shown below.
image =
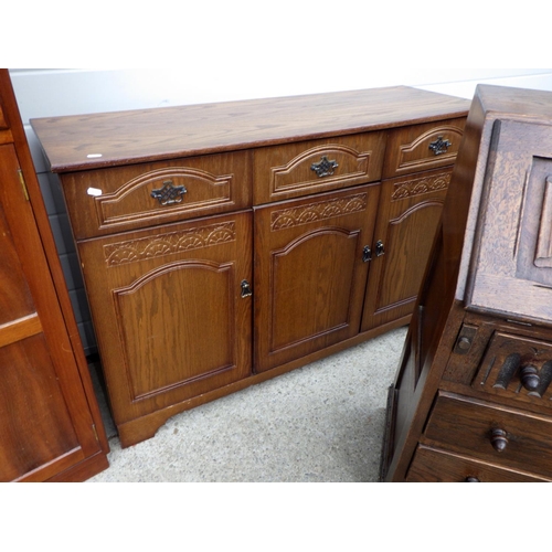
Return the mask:
<path id="1" fill-rule="evenodd" d="M 88 481 L 376 481 L 405 336 L 400 328 L 178 414 L 125 449 L 105 414 L 110 467 Z"/>

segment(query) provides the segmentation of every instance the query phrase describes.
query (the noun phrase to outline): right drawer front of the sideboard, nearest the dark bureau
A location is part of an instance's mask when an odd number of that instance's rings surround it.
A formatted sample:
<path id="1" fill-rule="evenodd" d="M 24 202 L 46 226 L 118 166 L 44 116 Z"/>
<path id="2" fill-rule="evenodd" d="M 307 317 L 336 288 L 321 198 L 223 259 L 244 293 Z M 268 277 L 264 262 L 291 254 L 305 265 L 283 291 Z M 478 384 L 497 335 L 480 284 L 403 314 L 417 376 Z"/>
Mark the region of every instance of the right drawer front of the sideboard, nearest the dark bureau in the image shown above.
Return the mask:
<path id="1" fill-rule="evenodd" d="M 466 119 L 414 125 L 390 132 L 383 178 L 453 164 Z"/>

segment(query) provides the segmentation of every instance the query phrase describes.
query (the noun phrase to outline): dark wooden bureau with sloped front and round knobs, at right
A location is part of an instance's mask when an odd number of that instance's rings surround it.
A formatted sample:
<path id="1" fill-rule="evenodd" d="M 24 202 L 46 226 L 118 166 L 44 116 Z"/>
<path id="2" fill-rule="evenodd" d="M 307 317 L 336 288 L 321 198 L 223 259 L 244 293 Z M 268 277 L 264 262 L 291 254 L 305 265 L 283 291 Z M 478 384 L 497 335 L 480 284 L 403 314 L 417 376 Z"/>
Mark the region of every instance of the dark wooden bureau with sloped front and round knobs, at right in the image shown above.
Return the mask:
<path id="1" fill-rule="evenodd" d="M 479 85 L 390 391 L 382 478 L 552 480 L 552 93 Z"/>

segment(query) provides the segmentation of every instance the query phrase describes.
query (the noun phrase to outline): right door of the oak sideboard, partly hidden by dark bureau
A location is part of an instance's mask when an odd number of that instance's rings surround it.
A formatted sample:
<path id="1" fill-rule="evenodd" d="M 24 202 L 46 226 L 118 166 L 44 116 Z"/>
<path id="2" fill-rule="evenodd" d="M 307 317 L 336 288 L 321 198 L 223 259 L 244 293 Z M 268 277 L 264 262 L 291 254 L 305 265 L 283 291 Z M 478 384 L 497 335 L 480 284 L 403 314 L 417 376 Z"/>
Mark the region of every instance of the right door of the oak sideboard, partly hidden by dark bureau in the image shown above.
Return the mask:
<path id="1" fill-rule="evenodd" d="M 362 331 L 412 314 L 450 174 L 447 169 L 382 183 Z"/>

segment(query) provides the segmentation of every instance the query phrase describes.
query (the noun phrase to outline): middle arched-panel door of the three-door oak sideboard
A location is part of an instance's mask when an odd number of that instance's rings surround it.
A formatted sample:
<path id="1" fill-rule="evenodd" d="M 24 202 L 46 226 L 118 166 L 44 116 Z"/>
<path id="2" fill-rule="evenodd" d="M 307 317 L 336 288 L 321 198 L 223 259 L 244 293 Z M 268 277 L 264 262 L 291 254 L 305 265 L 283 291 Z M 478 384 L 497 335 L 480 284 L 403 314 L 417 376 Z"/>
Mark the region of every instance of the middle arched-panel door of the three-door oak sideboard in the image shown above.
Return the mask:
<path id="1" fill-rule="evenodd" d="M 379 185 L 255 210 L 255 370 L 359 332 Z"/>

